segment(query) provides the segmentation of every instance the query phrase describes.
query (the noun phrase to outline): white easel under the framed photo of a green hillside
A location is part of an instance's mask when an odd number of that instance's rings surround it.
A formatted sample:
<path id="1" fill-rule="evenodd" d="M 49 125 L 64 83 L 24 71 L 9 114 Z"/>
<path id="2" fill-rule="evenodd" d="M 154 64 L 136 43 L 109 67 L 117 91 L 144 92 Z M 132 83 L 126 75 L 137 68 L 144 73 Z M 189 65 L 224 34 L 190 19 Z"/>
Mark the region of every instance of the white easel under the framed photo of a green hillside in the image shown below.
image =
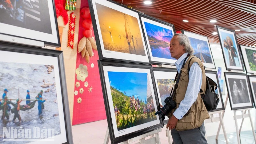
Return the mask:
<path id="1" fill-rule="evenodd" d="M 133 143 L 134 141 L 137 141 L 137 140 L 139 140 L 139 142 L 136 143 L 136 144 L 161 144 L 160 137 L 159 137 L 159 132 L 162 132 L 162 128 L 156 129 L 154 131 L 151 131 L 151 132 L 148 132 L 148 133 L 145 133 L 145 134 L 142 134 L 140 136 L 134 137 L 134 138 L 129 139 L 129 140 L 125 140 L 125 141 L 121 142 L 120 144 L 129 144 L 129 143 Z M 155 135 L 155 137 L 154 137 L 154 135 Z M 145 140 L 145 138 L 148 137 L 148 136 L 150 136 L 150 138 Z M 110 138 L 109 130 L 107 128 L 103 144 L 108 144 L 109 138 Z"/>

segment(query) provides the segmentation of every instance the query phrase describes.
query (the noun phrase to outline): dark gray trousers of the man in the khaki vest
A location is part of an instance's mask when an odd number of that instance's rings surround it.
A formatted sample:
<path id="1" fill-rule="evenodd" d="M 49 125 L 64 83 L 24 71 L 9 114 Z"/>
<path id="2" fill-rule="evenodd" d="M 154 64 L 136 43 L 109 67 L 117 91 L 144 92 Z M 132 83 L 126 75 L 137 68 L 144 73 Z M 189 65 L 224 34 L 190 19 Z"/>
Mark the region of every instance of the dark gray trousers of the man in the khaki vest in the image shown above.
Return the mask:
<path id="1" fill-rule="evenodd" d="M 173 144 L 207 144 L 204 123 L 195 129 L 177 131 L 171 130 Z"/>

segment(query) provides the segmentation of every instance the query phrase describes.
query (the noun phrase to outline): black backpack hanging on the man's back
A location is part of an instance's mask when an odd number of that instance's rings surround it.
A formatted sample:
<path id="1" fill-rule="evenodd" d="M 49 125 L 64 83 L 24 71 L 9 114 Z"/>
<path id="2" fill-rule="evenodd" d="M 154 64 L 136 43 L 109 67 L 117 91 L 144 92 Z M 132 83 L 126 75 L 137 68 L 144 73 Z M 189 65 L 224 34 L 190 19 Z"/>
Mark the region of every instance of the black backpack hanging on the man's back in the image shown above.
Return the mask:
<path id="1" fill-rule="evenodd" d="M 197 57 L 193 57 L 193 58 L 197 58 Z M 193 58 L 191 58 L 188 62 L 188 75 L 189 75 L 189 70 L 190 70 L 189 64 Z M 205 69 L 205 66 L 204 66 L 204 69 Z M 219 96 L 219 94 L 215 93 L 215 90 L 217 88 L 218 88 L 218 85 L 211 78 L 206 76 L 205 93 L 203 93 L 202 89 L 200 89 L 200 93 L 201 93 L 201 98 L 204 101 L 204 105 L 205 105 L 207 111 L 215 110 L 218 106 L 218 103 L 220 101 L 220 96 Z"/>

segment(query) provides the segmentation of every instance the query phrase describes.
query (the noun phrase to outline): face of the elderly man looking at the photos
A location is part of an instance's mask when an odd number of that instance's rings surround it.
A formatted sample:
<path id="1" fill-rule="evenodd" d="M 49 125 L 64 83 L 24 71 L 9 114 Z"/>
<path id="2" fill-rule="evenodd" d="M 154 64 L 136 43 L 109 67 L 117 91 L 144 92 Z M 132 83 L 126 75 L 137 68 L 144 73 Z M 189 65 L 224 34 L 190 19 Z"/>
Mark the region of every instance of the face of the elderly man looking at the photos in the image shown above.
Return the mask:
<path id="1" fill-rule="evenodd" d="M 185 53 L 185 47 L 180 45 L 177 36 L 172 37 L 169 50 L 171 52 L 171 56 L 176 60 L 178 60 L 180 56 Z"/>

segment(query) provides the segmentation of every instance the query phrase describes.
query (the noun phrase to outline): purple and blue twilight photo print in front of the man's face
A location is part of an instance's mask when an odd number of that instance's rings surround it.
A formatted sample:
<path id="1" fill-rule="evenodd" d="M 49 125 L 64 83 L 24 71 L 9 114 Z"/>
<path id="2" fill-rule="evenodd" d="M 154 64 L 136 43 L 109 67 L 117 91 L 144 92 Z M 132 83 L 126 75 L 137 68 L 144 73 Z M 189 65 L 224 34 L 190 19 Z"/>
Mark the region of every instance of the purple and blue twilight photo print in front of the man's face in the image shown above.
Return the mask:
<path id="1" fill-rule="evenodd" d="M 144 22 L 153 57 L 173 59 L 169 51 L 173 31 L 148 22 Z"/>

